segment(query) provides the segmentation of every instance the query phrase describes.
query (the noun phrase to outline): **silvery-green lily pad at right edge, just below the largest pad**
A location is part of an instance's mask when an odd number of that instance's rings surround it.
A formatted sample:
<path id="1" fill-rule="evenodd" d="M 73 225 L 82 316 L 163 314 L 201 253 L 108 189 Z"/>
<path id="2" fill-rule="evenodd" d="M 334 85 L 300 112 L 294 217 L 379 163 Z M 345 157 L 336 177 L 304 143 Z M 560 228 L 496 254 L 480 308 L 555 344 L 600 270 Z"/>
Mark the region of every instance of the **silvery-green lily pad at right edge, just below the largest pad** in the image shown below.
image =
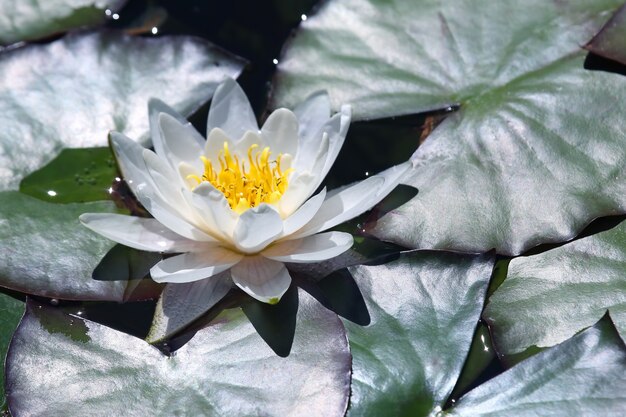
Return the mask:
<path id="1" fill-rule="evenodd" d="M 560 343 L 609 310 L 626 335 L 626 221 L 539 255 L 519 257 L 483 317 L 510 355 Z"/>

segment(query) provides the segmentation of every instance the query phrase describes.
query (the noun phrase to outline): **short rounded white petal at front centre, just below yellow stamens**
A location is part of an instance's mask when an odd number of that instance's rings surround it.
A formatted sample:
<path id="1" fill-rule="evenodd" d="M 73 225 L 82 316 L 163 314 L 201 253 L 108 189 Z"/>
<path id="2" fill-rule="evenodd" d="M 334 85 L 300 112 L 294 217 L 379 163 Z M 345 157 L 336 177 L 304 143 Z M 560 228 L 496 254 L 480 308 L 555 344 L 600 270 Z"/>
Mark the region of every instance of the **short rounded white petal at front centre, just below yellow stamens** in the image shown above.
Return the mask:
<path id="1" fill-rule="evenodd" d="M 256 253 L 270 244 L 283 231 L 283 220 L 274 207 L 260 204 L 239 216 L 233 240 L 244 253 Z"/>

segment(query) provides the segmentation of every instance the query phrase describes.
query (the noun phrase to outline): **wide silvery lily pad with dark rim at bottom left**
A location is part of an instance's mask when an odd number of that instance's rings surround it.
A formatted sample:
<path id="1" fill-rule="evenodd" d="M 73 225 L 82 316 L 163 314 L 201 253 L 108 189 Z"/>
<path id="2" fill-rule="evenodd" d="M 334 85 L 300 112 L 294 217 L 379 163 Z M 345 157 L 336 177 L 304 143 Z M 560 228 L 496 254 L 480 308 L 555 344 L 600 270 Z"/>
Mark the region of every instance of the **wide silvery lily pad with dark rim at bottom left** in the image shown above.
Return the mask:
<path id="1" fill-rule="evenodd" d="M 344 328 L 303 292 L 297 320 L 288 358 L 276 356 L 239 309 L 167 357 L 31 302 L 7 358 L 9 407 L 15 415 L 67 417 L 343 416 L 350 390 Z M 88 340 L 71 337 L 77 325 Z"/>

